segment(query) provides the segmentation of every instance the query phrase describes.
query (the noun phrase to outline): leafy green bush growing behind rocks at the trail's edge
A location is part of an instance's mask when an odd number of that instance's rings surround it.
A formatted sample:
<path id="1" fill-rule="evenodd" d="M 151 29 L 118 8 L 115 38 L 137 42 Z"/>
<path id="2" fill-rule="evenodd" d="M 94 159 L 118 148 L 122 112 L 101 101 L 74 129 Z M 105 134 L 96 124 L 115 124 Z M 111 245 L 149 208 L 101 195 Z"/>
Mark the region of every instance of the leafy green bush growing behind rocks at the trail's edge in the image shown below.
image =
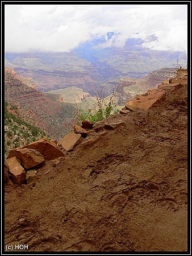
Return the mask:
<path id="1" fill-rule="evenodd" d="M 83 100 L 84 102 L 86 102 L 85 108 L 78 106 L 76 103 L 77 122 L 80 123 L 81 121 L 89 120 L 92 123 L 96 123 L 109 117 L 111 114 L 117 114 L 119 110 L 115 110 L 113 112 L 114 108 L 116 107 L 116 104 L 114 104 L 113 101 L 113 97 L 114 90 L 109 101 L 106 103 L 104 94 L 102 95 L 101 92 L 100 96 L 98 94 L 96 96 L 97 102 L 93 105 L 92 108 L 90 108 L 89 103 L 86 101 L 86 98 L 84 96 Z"/>

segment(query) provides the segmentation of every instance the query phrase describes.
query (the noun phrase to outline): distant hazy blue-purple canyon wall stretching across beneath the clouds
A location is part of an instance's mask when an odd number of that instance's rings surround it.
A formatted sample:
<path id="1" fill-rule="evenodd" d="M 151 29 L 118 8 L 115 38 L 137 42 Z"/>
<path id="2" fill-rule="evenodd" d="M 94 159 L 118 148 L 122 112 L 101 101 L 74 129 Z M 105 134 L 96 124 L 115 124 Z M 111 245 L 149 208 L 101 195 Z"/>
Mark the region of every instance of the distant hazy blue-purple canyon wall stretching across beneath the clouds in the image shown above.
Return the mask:
<path id="1" fill-rule="evenodd" d="M 24 77 L 32 77 L 41 92 L 77 86 L 91 96 L 101 89 L 108 96 L 109 85 L 124 76 L 141 78 L 155 69 L 173 67 L 184 53 L 145 48 L 99 48 L 94 42 L 70 53 L 6 53 L 6 64 Z M 105 83 L 105 86 L 103 86 Z"/>

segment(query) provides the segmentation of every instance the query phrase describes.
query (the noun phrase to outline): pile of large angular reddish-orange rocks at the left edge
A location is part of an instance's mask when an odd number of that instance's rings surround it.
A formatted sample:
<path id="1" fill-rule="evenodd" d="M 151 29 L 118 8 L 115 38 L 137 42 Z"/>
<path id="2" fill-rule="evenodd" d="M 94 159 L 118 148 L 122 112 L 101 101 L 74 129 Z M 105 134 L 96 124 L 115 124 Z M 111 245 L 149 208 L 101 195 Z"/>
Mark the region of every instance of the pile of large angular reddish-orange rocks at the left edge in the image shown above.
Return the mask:
<path id="1" fill-rule="evenodd" d="M 28 183 L 29 180 L 38 178 L 35 171 L 29 171 L 29 169 L 40 168 L 44 165 L 45 160 L 55 160 L 61 156 L 64 154 L 57 146 L 56 141 L 49 141 L 47 138 L 14 148 L 5 160 L 5 183 L 9 181 L 9 177 L 15 185 L 23 184 L 24 180 Z M 54 166 L 57 164 L 58 162 L 55 162 Z"/>

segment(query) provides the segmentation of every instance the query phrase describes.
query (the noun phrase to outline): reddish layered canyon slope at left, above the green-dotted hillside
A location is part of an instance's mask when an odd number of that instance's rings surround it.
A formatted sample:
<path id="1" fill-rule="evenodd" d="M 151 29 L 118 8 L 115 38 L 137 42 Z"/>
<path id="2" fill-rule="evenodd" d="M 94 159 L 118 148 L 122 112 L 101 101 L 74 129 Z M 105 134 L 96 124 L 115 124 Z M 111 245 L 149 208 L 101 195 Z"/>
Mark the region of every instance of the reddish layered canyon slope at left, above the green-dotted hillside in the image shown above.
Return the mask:
<path id="1" fill-rule="evenodd" d="M 51 100 L 36 89 L 31 79 L 21 78 L 10 68 L 5 68 L 5 100 L 18 106 L 20 117 L 53 138 L 59 139 L 67 133 L 65 121 L 72 117 L 71 104 Z"/>

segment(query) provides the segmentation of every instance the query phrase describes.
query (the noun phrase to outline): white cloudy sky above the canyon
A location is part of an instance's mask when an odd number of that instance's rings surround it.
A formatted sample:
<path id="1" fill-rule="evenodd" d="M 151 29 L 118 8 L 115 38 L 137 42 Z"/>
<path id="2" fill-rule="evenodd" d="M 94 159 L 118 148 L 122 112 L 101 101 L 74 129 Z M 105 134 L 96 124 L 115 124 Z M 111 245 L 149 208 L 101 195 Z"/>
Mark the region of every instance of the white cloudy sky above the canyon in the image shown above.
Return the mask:
<path id="1" fill-rule="evenodd" d="M 186 51 L 187 5 L 5 5 L 7 52 L 69 52 L 110 31 L 120 33 L 117 46 L 129 36 L 155 35 L 143 46 Z"/>

